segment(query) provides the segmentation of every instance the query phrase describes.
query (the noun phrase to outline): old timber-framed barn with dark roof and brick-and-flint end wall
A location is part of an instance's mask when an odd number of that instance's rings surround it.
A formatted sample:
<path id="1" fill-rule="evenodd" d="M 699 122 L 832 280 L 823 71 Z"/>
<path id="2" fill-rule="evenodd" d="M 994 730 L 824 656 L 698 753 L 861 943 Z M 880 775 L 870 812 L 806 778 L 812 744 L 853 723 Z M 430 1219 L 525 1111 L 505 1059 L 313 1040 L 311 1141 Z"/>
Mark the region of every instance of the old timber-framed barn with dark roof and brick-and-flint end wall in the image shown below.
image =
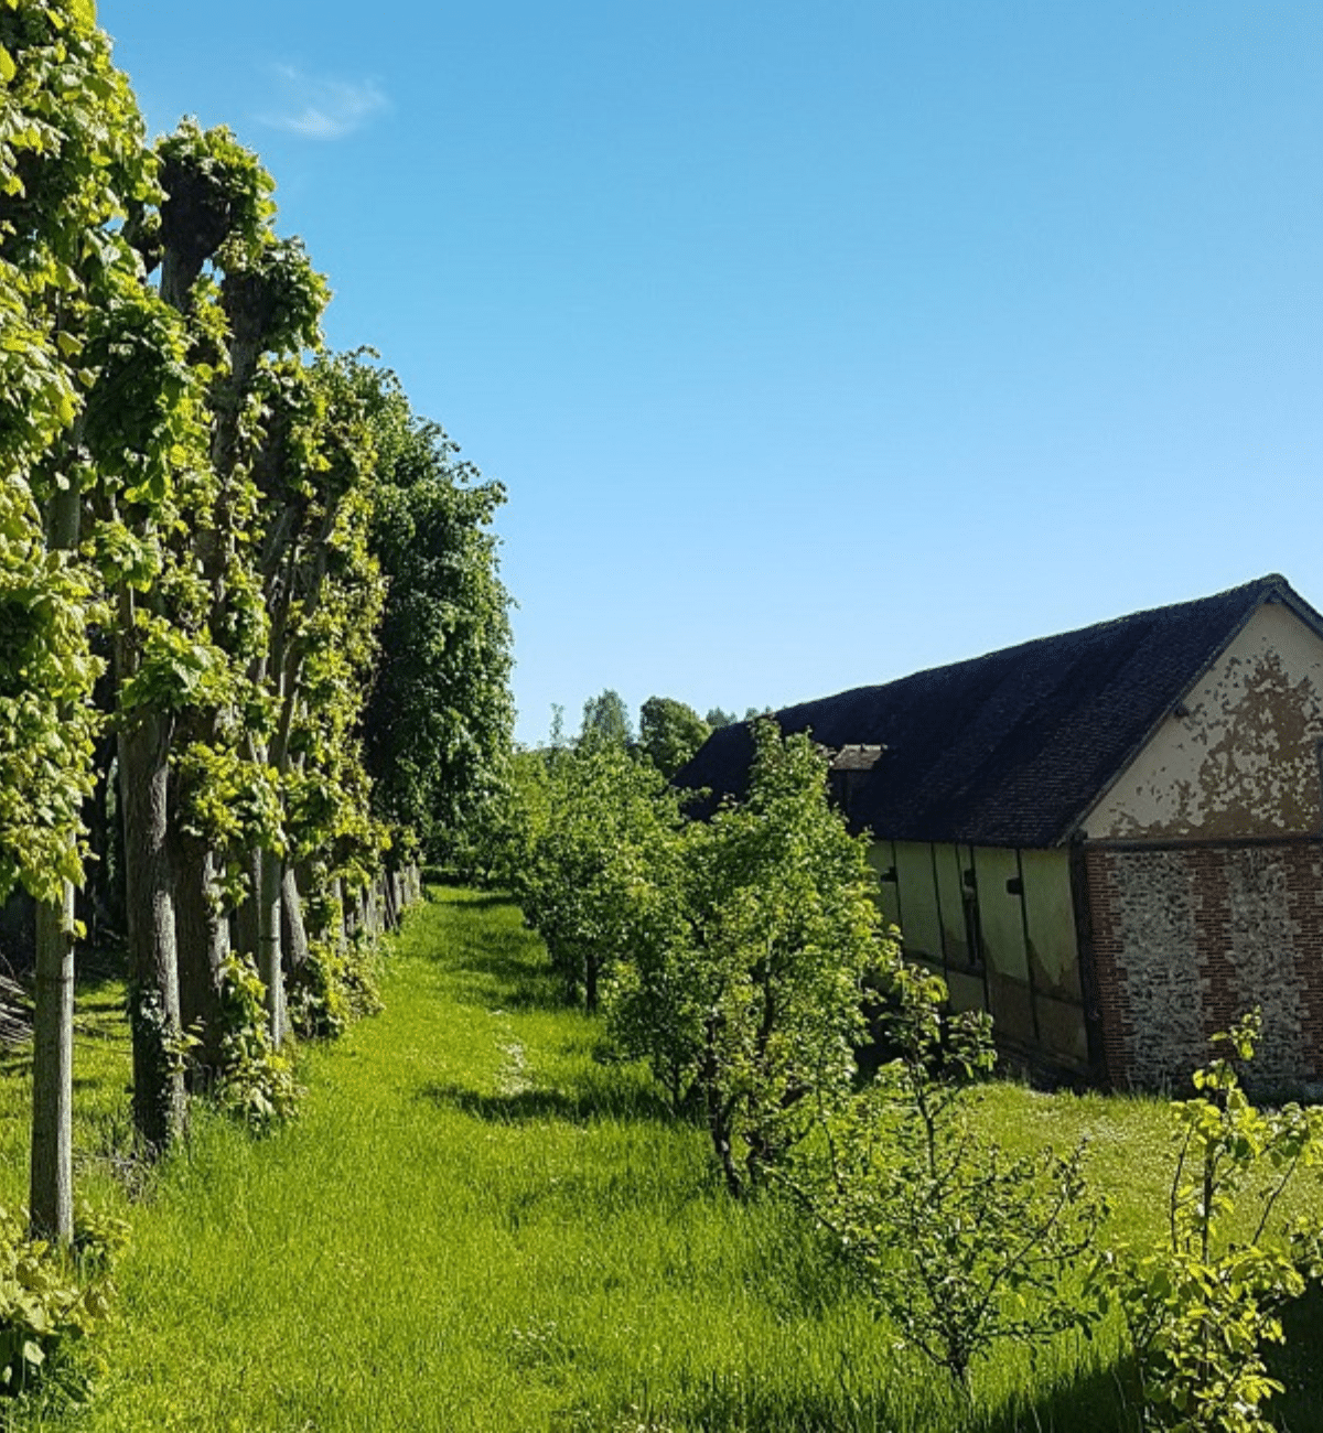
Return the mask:
<path id="1" fill-rule="evenodd" d="M 1260 1006 L 1257 1078 L 1323 1082 L 1323 616 L 1284 577 L 773 715 L 1009 1055 L 1160 1088 Z M 722 728 L 677 781 L 738 795 L 751 752 Z"/>

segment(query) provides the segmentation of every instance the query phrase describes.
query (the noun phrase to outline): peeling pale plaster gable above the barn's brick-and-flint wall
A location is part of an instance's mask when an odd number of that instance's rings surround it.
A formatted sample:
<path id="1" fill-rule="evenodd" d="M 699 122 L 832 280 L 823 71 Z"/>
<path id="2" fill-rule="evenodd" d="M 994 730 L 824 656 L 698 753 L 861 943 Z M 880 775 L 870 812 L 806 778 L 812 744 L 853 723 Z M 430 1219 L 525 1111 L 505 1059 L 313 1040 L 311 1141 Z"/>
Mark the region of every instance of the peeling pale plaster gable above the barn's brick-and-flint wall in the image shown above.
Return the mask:
<path id="1" fill-rule="evenodd" d="M 1085 818 L 1091 838 L 1323 830 L 1323 639 L 1261 606 Z"/>

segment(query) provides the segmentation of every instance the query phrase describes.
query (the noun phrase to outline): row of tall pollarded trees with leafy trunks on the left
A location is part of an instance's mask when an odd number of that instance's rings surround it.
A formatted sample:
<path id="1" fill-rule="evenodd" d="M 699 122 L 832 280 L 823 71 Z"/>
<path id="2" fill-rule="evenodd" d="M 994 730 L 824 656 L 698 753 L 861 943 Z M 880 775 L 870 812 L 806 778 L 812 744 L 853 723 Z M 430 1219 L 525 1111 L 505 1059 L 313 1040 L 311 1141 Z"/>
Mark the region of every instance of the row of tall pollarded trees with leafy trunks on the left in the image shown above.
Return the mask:
<path id="1" fill-rule="evenodd" d="M 272 189 L 225 129 L 145 142 L 86 0 L 0 7 L 0 898 L 39 901 L 32 1217 L 62 1240 L 87 830 L 161 1151 L 242 963 L 249 1052 L 287 1037 L 290 980 L 331 1022 L 420 843 L 503 780 L 502 490 L 325 351 Z"/>

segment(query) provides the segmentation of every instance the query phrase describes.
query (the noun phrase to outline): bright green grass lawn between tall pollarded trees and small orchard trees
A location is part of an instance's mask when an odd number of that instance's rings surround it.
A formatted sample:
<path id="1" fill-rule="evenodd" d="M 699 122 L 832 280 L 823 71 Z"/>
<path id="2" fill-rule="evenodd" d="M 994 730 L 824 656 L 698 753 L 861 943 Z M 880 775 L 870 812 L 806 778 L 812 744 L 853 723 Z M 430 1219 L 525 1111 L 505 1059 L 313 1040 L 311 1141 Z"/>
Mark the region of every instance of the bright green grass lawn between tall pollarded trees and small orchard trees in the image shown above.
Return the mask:
<path id="1" fill-rule="evenodd" d="M 896 1350 L 773 1201 L 735 1205 L 598 1026 L 559 1003 L 507 901 L 444 891 L 394 943 L 387 1007 L 307 1053 L 302 1118 L 209 1118 L 130 1202 L 116 1175 L 128 1049 L 113 984 L 82 992 L 80 1192 L 133 1244 L 89 1410 L 24 1427 L 331 1430 L 1088 1430 L 1134 1426 L 1115 1330 L 1035 1366 L 1008 1350 L 963 1407 Z M 0 1080 L 0 1201 L 23 1198 L 26 1056 Z M 1086 1132 L 1115 1228 L 1162 1217 L 1154 1101 L 995 1086 L 1011 1142 Z M 1323 1358 L 1301 1314 L 1287 1377 Z M 1283 1400 L 1323 1427 L 1323 1383 Z"/>

